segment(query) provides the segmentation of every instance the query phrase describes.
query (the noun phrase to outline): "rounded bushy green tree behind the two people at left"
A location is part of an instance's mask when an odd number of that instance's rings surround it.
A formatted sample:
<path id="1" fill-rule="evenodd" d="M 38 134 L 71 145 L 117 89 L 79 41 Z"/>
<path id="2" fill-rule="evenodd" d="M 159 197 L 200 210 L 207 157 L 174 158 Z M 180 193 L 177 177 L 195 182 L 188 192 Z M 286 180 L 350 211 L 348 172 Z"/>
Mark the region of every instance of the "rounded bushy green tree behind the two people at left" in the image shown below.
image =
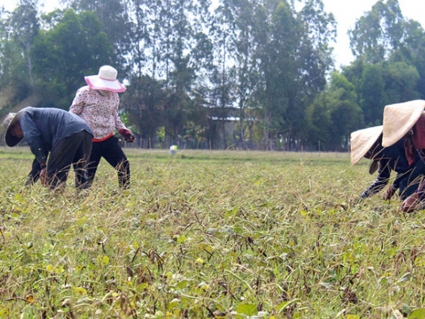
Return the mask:
<path id="1" fill-rule="evenodd" d="M 97 74 L 101 65 L 114 61 L 113 45 L 101 31 L 96 14 L 72 9 L 65 11 L 55 26 L 39 33 L 32 57 L 43 105 L 64 109 L 85 85 L 85 75 Z"/>

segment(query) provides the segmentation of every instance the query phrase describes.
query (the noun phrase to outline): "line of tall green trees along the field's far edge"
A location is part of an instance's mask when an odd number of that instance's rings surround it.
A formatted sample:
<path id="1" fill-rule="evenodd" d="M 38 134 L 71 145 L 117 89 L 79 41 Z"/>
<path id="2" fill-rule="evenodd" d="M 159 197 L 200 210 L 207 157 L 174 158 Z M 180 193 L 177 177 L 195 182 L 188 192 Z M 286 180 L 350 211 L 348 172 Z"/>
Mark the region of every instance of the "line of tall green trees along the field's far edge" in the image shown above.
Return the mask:
<path id="1" fill-rule="evenodd" d="M 347 150 L 385 105 L 425 97 L 424 28 L 397 0 L 349 30 L 355 60 L 335 69 L 336 21 L 321 0 L 64 0 L 0 12 L 0 115 L 69 109 L 84 76 L 113 65 L 138 147 Z"/>

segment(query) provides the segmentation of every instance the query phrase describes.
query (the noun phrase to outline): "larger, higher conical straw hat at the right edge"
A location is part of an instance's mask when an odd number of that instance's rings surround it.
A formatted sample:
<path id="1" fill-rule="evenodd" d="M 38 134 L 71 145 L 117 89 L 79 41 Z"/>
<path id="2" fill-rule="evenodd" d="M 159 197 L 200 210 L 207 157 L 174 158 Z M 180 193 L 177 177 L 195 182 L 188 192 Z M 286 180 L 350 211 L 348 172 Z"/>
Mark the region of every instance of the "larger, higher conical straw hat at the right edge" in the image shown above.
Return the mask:
<path id="1" fill-rule="evenodd" d="M 424 112 L 425 101 L 414 100 L 384 108 L 382 146 L 388 147 L 404 137 Z"/>

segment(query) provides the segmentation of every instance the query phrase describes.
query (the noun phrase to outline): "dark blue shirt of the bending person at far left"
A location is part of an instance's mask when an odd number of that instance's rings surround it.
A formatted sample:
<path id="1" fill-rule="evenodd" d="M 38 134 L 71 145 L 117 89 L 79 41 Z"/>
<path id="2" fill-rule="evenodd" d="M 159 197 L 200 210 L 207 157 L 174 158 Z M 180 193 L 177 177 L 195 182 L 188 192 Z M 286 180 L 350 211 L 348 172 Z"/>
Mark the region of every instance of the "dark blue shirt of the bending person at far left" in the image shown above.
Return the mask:
<path id="1" fill-rule="evenodd" d="M 23 138 L 39 163 L 45 163 L 50 150 L 60 140 L 81 130 L 90 134 L 90 126 L 79 116 L 59 108 L 33 108 L 28 106 L 16 114 Z"/>

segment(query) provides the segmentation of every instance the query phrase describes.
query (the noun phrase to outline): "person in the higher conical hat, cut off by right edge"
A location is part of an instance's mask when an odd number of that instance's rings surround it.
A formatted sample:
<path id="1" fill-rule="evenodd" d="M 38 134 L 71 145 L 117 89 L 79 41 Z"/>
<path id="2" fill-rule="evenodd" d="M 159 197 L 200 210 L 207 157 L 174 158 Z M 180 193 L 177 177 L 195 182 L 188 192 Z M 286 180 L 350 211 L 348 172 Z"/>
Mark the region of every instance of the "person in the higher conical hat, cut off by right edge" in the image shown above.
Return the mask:
<path id="1" fill-rule="evenodd" d="M 382 145 L 389 147 L 398 140 L 407 140 L 406 154 L 412 160 L 414 150 L 425 162 L 425 101 L 414 100 L 404 103 L 387 105 L 384 108 Z M 412 213 L 424 208 L 425 205 L 425 179 L 422 179 L 419 188 L 414 194 L 404 199 L 402 211 Z"/>

